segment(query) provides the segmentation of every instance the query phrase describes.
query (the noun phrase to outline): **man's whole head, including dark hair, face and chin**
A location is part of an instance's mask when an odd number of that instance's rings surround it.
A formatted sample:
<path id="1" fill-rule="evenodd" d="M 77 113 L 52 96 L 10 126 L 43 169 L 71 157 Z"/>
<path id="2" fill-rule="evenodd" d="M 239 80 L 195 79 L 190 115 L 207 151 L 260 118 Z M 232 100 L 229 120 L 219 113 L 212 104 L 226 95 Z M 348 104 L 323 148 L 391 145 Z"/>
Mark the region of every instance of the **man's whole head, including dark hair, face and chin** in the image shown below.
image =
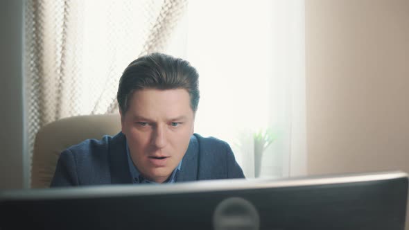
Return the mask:
<path id="1" fill-rule="evenodd" d="M 164 182 L 182 160 L 198 109 L 198 73 L 189 62 L 160 53 L 125 69 L 118 89 L 122 132 L 139 172 Z"/>

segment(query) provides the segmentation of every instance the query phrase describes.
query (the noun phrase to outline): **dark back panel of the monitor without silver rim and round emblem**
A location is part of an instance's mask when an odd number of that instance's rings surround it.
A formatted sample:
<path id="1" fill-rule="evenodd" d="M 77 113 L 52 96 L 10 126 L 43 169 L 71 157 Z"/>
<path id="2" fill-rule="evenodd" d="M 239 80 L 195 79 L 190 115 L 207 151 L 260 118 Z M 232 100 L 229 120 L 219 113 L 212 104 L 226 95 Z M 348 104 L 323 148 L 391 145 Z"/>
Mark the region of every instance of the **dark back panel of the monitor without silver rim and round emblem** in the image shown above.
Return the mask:
<path id="1" fill-rule="evenodd" d="M 408 179 L 398 178 L 232 191 L 3 200 L 0 229 L 209 230 L 215 229 L 214 213 L 220 202 L 239 197 L 255 207 L 258 229 L 403 230 L 407 193 Z M 229 228 L 240 229 L 225 226 Z"/>

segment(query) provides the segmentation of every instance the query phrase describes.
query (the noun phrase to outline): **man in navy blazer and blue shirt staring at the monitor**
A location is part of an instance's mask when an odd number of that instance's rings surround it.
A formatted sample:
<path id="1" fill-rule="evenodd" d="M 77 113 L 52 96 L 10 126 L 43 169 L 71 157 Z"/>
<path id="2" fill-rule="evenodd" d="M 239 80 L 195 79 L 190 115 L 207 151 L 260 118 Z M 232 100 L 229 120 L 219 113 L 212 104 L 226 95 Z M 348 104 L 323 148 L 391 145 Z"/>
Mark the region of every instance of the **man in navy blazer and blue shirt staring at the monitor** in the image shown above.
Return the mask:
<path id="1" fill-rule="evenodd" d="M 243 178 L 224 141 L 193 134 L 198 73 L 161 53 L 134 60 L 119 82 L 122 130 L 60 154 L 51 186 Z"/>

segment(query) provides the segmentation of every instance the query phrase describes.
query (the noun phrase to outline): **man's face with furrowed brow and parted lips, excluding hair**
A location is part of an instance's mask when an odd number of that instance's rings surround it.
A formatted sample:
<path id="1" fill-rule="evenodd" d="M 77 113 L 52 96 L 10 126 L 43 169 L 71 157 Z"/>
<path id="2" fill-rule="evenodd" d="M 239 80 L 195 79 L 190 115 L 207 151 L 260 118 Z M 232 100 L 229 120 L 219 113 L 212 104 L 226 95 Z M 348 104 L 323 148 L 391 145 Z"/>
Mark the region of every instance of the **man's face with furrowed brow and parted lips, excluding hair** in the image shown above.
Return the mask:
<path id="1" fill-rule="evenodd" d="M 186 153 L 194 114 L 186 89 L 142 89 L 121 114 L 122 132 L 139 172 L 154 182 L 168 179 Z"/>

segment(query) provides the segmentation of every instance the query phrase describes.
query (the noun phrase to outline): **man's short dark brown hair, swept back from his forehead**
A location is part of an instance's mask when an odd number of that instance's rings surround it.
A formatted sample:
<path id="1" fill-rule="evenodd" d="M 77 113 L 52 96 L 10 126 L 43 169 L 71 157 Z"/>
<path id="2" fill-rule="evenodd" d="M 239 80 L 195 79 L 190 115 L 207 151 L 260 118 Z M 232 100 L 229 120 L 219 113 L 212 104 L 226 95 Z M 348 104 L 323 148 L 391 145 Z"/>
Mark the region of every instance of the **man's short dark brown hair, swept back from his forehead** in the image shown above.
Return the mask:
<path id="1" fill-rule="evenodd" d="M 163 53 L 151 53 L 131 62 L 119 80 L 118 100 L 122 114 L 128 111 L 129 99 L 140 89 L 186 89 L 191 109 L 198 110 L 199 74 L 186 60 Z"/>

